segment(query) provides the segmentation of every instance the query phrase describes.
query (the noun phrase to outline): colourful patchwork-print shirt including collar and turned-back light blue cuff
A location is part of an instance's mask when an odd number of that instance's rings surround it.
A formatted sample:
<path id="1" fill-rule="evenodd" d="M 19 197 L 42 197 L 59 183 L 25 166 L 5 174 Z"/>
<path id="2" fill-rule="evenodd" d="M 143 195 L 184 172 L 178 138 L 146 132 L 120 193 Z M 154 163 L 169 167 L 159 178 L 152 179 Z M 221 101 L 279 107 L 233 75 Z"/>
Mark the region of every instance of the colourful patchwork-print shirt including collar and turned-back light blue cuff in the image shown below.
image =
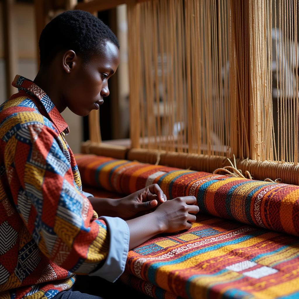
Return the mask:
<path id="1" fill-rule="evenodd" d="M 48 95 L 21 76 L 13 86 L 19 92 L 0 106 L 0 297 L 52 298 L 74 273 L 114 281 L 126 262 L 126 222 L 98 219 L 83 195 L 68 126 Z"/>

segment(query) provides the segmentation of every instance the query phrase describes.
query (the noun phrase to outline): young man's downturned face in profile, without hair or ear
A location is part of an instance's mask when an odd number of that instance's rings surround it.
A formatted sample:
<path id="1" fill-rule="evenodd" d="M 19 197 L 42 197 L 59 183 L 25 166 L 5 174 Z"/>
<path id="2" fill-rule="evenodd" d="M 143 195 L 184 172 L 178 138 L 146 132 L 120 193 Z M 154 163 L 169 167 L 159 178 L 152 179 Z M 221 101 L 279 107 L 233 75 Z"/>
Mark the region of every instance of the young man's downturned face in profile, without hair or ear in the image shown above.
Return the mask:
<path id="1" fill-rule="evenodd" d="M 109 95 L 108 79 L 118 67 L 119 51 L 112 42 L 106 42 L 103 54 L 94 54 L 85 63 L 78 59 L 76 63 L 67 76 L 63 97 L 72 112 L 85 116 L 99 109 L 104 97 Z"/>

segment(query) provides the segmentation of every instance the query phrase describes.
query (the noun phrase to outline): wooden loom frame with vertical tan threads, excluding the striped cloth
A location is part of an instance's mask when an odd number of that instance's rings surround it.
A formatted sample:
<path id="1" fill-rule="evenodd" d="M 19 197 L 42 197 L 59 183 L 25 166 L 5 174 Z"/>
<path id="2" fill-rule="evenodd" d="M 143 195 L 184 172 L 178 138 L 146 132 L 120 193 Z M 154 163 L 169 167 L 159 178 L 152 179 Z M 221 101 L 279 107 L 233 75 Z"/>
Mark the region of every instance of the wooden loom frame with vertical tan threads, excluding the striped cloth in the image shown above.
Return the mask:
<path id="1" fill-rule="evenodd" d="M 73 7 L 96 13 L 124 3 L 132 146 L 103 144 L 92 111 L 83 152 L 208 172 L 234 155 L 237 169 L 254 179 L 299 184 L 297 1 L 91 0 Z"/>

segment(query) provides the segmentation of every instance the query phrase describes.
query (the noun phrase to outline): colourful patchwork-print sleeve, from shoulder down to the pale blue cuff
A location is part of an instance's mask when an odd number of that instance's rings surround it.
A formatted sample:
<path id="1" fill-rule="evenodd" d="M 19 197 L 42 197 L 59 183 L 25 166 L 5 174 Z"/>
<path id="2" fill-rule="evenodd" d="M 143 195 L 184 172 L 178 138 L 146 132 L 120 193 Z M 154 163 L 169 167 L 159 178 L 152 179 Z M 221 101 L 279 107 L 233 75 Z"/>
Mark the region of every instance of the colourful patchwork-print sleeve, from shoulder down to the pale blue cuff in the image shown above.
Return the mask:
<path id="1" fill-rule="evenodd" d="M 89 200 L 78 190 L 63 154 L 65 144 L 53 124 L 42 115 L 27 113 L 30 115 L 24 118 L 30 121 L 15 120 L 14 134 L 4 152 L 16 208 L 50 260 L 74 273 L 98 271 L 109 256 L 107 222 L 113 223 L 113 219 L 97 219 Z M 120 255 L 126 253 L 127 248 Z M 110 279 L 115 280 L 122 271 Z"/>

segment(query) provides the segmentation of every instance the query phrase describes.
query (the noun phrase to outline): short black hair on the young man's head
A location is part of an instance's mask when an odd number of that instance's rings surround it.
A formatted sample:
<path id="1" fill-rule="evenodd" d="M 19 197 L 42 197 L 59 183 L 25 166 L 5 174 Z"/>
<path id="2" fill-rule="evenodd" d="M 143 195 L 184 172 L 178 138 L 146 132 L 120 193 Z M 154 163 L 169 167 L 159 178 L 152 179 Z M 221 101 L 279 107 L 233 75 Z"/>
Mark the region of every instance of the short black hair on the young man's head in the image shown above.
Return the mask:
<path id="1" fill-rule="evenodd" d="M 118 39 L 100 19 L 83 10 L 65 11 L 49 22 L 39 38 L 40 64 L 48 64 L 63 50 L 73 50 L 86 62 L 107 41 L 119 49 Z"/>

